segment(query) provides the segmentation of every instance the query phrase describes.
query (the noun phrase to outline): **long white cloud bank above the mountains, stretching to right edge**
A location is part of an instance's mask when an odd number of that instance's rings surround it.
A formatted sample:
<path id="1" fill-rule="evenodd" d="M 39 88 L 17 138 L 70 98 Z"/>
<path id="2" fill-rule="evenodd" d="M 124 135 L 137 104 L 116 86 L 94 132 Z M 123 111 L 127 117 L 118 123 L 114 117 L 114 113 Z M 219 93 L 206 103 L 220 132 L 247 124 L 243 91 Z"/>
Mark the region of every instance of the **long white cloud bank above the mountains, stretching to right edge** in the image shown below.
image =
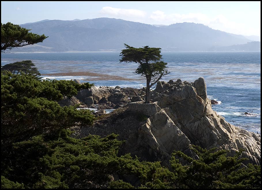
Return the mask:
<path id="1" fill-rule="evenodd" d="M 134 22 L 142 22 L 146 24 L 175 24 L 179 22 L 194 22 L 204 24 L 212 29 L 225 31 L 233 34 L 241 35 L 260 35 L 260 17 L 256 18 L 257 26 L 246 26 L 243 23 L 237 23 L 226 18 L 224 15 L 207 16 L 202 13 L 188 14 L 166 14 L 161 10 L 156 10 L 151 14 L 138 9 L 120 9 L 114 7 L 103 7 L 100 10 L 100 16 L 109 18 L 120 18 Z"/>

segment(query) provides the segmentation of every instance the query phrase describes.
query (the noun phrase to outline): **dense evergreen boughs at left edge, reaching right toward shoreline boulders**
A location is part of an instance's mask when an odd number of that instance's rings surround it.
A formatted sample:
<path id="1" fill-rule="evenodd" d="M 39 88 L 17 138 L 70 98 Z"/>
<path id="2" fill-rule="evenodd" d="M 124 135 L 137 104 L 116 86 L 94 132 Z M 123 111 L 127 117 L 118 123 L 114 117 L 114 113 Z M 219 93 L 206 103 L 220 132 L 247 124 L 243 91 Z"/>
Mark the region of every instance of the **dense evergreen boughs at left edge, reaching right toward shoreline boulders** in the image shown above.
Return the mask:
<path id="1" fill-rule="evenodd" d="M 1 73 L 1 140 L 26 140 L 44 132 L 55 132 L 77 124 L 91 124 L 88 110 L 60 107 L 56 102 L 90 88 L 74 81 L 39 81 L 32 75 Z"/>

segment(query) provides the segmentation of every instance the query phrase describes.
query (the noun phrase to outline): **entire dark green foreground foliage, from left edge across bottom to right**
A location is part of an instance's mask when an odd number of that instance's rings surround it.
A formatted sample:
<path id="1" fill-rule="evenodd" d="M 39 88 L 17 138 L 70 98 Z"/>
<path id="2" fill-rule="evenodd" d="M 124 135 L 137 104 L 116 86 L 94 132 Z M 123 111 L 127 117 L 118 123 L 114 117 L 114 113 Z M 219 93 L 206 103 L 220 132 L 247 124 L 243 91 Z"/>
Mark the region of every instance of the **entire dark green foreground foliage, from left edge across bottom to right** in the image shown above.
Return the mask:
<path id="1" fill-rule="evenodd" d="M 260 166 L 242 167 L 240 153 L 227 157 L 224 150 L 193 147 L 199 156 L 193 159 L 176 151 L 169 170 L 160 162 L 118 155 L 122 142 L 115 134 L 69 137 L 67 128 L 94 118 L 57 100 L 90 86 L 2 73 L 1 188 L 260 188 Z M 130 175 L 136 184 L 127 180 Z"/>

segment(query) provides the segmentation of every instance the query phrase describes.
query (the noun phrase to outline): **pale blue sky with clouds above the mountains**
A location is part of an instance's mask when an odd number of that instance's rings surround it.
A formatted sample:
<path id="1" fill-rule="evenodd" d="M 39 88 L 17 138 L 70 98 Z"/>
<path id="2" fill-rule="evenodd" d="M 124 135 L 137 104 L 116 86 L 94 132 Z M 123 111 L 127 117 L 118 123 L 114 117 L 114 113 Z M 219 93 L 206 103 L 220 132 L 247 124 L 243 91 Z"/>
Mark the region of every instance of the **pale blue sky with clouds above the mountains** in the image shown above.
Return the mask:
<path id="1" fill-rule="evenodd" d="M 119 18 L 145 24 L 194 22 L 260 36 L 260 1 L 1 1 L 1 23 Z"/>

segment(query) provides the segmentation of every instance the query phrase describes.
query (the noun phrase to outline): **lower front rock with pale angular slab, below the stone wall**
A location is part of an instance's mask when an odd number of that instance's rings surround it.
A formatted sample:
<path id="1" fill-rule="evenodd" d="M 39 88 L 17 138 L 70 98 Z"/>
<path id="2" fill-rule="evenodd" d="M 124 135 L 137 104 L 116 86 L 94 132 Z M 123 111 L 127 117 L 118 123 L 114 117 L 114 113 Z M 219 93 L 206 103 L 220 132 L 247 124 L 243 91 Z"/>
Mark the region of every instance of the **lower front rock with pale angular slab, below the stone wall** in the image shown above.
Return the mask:
<path id="1" fill-rule="evenodd" d="M 130 152 L 142 160 L 162 161 L 165 166 L 169 166 L 174 150 L 194 155 L 189 149 L 190 140 L 163 109 L 149 117 L 136 133 L 129 135 L 124 146 L 124 153 Z"/>

